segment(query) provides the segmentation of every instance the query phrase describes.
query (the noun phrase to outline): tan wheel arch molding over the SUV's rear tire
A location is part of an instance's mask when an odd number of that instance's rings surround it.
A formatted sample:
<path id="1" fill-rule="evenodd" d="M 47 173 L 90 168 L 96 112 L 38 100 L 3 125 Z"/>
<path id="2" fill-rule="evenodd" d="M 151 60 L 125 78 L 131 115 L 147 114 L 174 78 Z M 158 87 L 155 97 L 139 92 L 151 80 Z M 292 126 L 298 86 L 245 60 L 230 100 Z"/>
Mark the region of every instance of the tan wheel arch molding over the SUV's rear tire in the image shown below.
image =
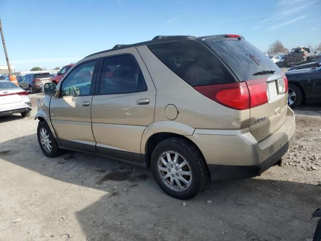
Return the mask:
<path id="1" fill-rule="evenodd" d="M 188 125 L 185 125 L 180 122 L 173 122 L 173 121 L 161 121 L 161 122 L 154 122 L 146 127 L 144 133 L 141 138 L 140 144 L 140 151 L 141 154 L 147 153 L 146 144 L 148 139 L 156 134 L 156 133 L 174 133 L 182 136 L 192 136 L 195 129 Z"/>

